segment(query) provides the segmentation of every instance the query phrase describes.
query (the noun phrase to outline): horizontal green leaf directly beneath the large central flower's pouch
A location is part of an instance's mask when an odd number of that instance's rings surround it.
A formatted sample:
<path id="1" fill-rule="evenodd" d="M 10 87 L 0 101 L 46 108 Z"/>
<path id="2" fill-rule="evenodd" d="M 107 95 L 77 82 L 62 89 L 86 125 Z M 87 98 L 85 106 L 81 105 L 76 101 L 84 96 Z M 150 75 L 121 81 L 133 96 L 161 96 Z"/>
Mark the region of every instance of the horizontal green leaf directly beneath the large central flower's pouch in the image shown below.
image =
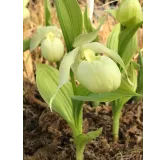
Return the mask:
<path id="1" fill-rule="evenodd" d="M 140 95 L 135 93 L 131 89 L 131 86 L 127 82 L 125 82 L 125 80 L 122 79 L 120 87 L 113 92 L 101 93 L 101 94 L 90 93 L 88 96 L 74 95 L 71 96 L 71 98 L 80 101 L 110 102 L 122 97 L 131 97 L 131 96 L 140 96 Z"/>

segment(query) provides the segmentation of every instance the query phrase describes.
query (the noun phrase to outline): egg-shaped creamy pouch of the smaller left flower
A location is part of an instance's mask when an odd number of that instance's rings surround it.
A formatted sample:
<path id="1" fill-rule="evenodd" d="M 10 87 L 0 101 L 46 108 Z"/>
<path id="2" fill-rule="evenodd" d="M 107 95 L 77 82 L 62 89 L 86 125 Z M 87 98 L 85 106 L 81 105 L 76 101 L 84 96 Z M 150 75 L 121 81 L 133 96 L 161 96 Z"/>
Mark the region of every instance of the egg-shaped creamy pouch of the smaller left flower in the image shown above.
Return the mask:
<path id="1" fill-rule="evenodd" d="M 59 38 L 49 32 L 41 43 L 41 53 L 50 62 L 58 62 L 64 54 L 64 45 Z"/>

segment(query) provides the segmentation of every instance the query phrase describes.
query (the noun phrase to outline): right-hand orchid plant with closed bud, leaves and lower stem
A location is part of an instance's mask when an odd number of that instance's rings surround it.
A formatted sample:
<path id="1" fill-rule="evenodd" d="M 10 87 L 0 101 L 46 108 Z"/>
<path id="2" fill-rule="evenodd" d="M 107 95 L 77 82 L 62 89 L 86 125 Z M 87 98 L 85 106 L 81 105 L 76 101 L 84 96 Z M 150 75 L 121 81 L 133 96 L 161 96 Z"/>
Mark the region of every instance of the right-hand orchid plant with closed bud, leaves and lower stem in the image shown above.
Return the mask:
<path id="1" fill-rule="evenodd" d="M 130 88 L 143 95 L 143 56 L 139 53 L 138 63 L 133 61 L 133 56 L 139 50 L 137 30 L 143 24 L 143 11 L 138 0 L 122 0 L 119 8 L 108 10 L 119 23 L 115 25 L 107 39 L 107 47 L 116 51 L 122 58 L 132 82 Z M 140 49 L 140 52 L 143 49 Z M 137 72 L 138 76 L 137 76 Z M 137 78 L 138 77 L 138 78 Z M 119 98 L 112 102 L 113 110 L 113 136 L 114 141 L 119 138 L 119 119 L 124 104 L 131 97 Z M 136 97 L 136 100 L 140 98 Z"/>

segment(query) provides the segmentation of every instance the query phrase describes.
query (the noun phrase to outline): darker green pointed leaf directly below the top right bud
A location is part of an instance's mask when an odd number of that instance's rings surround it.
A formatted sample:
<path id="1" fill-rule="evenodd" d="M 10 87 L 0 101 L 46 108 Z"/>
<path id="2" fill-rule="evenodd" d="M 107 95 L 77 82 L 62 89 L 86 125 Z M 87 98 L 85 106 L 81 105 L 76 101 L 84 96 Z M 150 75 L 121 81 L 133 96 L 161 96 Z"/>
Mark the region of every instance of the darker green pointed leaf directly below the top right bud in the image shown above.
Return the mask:
<path id="1" fill-rule="evenodd" d="M 130 28 L 124 29 L 120 35 L 119 35 L 119 49 L 118 53 L 119 55 L 123 55 L 123 52 L 125 51 L 127 44 L 132 39 L 133 35 L 136 33 L 138 28 L 143 24 L 143 21 L 136 24 L 135 26 L 132 26 Z"/>

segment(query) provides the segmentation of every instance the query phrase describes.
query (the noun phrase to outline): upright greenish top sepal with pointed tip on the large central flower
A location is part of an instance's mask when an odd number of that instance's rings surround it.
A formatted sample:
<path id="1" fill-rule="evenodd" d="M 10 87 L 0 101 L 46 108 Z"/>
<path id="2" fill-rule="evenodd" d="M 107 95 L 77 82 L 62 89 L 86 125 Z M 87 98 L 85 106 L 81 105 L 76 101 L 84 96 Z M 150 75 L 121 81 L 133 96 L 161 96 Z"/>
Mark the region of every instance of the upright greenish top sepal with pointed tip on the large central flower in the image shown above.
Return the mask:
<path id="1" fill-rule="evenodd" d="M 100 25 L 96 30 L 94 30 L 91 33 L 84 33 L 76 37 L 73 47 L 80 47 L 95 40 L 104 22 L 105 22 L 105 17 L 102 18 Z"/>

